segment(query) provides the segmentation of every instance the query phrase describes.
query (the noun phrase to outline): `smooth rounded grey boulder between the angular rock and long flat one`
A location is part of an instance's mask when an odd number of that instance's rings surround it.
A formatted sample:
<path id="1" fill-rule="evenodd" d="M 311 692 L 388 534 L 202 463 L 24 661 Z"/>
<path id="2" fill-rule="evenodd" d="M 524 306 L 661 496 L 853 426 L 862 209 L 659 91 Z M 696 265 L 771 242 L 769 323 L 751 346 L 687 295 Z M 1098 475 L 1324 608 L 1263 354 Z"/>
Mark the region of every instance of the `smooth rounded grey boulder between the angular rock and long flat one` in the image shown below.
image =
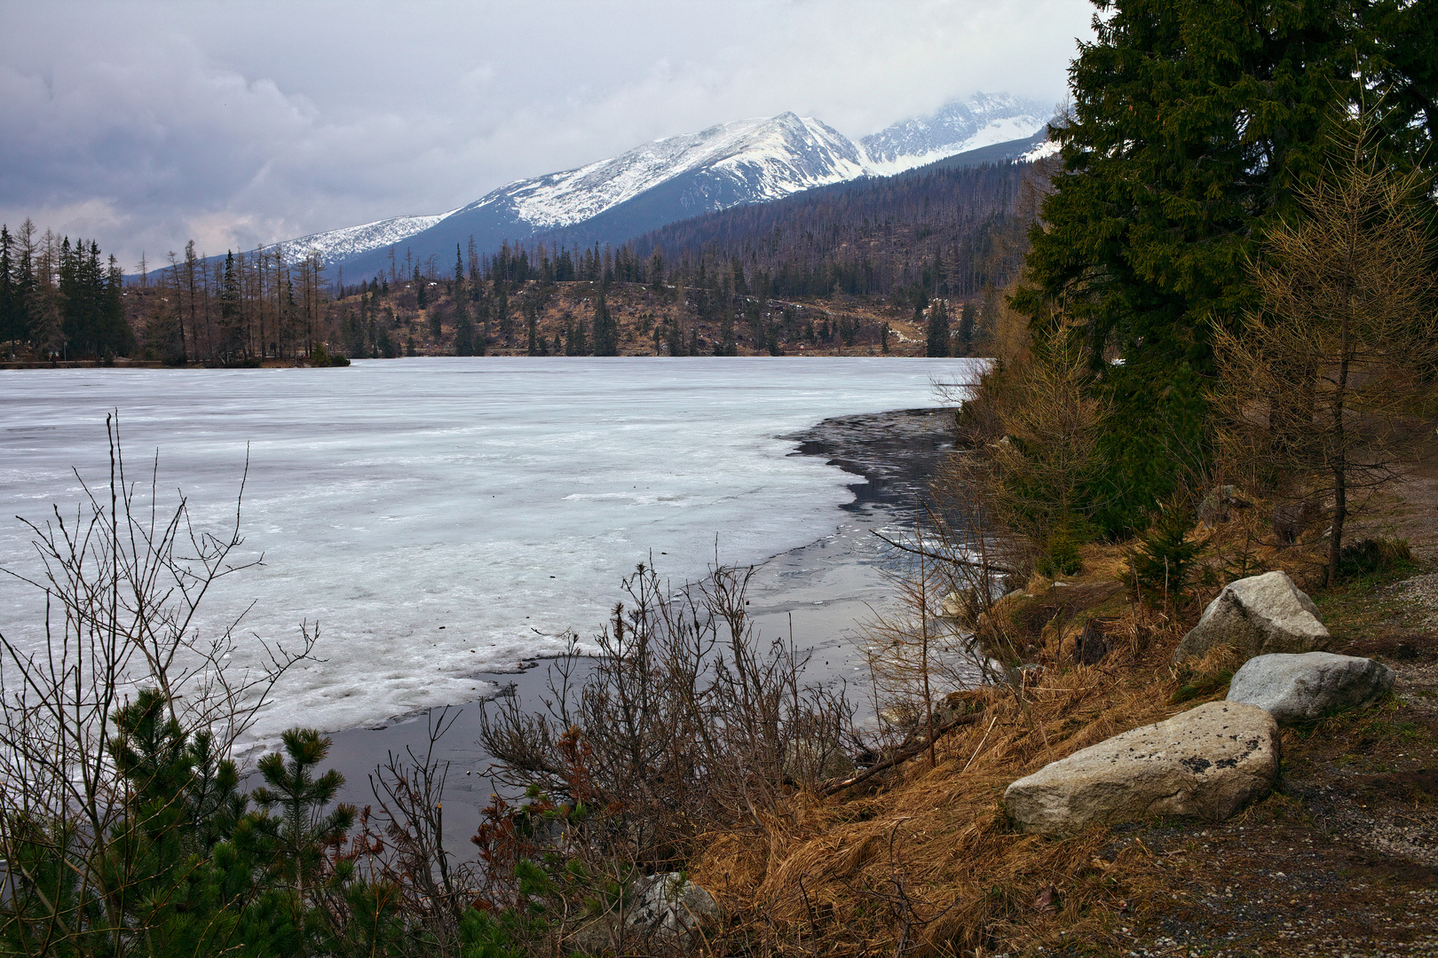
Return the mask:
<path id="1" fill-rule="evenodd" d="M 1255 655 L 1228 684 L 1228 701 L 1257 705 L 1280 724 L 1363 708 L 1393 688 L 1393 669 L 1332 652 Z"/>

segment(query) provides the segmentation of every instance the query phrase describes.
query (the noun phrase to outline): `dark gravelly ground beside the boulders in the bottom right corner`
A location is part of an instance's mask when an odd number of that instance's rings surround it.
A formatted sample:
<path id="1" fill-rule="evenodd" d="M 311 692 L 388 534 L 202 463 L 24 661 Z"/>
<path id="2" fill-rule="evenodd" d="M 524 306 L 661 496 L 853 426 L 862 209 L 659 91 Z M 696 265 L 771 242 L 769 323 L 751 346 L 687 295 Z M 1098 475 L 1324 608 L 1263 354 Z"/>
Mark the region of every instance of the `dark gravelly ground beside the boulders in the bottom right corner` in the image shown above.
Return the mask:
<path id="1" fill-rule="evenodd" d="M 1402 493 L 1365 531 L 1431 567 L 1438 478 Z M 1231 822 L 1116 834 L 1109 856 L 1142 842 L 1165 890 L 1073 954 L 1438 955 L 1438 573 L 1320 605 L 1334 651 L 1395 669 L 1392 701 L 1286 731 L 1278 791 Z"/>

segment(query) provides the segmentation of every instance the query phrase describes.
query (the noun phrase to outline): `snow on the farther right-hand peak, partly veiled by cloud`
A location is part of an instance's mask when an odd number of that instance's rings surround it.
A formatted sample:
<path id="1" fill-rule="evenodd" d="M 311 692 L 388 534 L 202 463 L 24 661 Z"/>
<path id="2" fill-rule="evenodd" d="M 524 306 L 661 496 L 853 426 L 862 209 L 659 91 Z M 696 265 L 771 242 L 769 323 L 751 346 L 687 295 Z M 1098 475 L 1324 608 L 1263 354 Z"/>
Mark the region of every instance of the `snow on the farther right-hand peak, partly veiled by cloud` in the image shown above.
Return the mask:
<path id="1" fill-rule="evenodd" d="M 1031 136 L 1053 111 L 1009 93 L 976 93 L 930 116 L 905 119 L 858 141 L 867 168 L 893 175 L 955 154 Z"/>

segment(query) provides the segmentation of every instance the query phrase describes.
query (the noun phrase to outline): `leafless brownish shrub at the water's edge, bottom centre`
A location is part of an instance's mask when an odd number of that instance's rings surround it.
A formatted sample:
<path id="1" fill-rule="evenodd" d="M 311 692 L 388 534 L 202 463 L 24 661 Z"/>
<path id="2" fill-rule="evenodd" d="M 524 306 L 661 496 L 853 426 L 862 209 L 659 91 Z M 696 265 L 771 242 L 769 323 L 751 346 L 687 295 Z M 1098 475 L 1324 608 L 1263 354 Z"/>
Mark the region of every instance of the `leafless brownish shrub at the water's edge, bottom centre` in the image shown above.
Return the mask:
<path id="1" fill-rule="evenodd" d="M 707 827 L 782 820 L 794 789 L 841 760 L 851 708 L 802 684 L 808 654 L 755 632 L 751 576 L 718 567 L 670 592 L 641 564 L 582 678 L 559 659 L 542 712 L 518 697 L 486 708 L 499 778 L 598 811 L 582 840 L 646 869 L 680 863 Z"/>

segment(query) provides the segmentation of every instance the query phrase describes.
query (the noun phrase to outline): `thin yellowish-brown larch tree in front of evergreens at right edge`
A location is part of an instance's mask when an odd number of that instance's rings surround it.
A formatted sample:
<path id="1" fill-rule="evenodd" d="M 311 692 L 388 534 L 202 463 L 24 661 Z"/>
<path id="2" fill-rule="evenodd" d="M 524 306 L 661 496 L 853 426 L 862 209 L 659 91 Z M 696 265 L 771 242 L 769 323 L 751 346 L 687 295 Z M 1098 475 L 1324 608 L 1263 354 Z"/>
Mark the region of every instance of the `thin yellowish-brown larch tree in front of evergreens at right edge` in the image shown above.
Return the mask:
<path id="1" fill-rule="evenodd" d="M 1347 518 L 1401 475 L 1438 411 L 1428 180 L 1376 159 L 1373 134 L 1355 124 L 1301 213 L 1268 230 L 1258 303 L 1215 338 L 1227 451 L 1280 498 L 1332 503 L 1330 585 Z"/>

